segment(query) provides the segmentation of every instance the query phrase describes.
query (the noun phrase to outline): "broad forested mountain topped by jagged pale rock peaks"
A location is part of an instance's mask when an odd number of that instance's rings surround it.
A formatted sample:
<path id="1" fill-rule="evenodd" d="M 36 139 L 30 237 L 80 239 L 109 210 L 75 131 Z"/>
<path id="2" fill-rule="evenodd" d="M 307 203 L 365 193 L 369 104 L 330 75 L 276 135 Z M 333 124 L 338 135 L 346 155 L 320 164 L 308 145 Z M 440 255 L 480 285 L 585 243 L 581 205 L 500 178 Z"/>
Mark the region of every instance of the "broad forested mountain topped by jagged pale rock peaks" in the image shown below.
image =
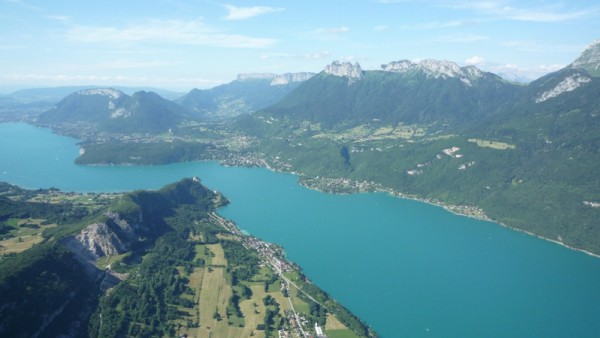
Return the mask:
<path id="1" fill-rule="evenodd" d="M 497 75 L 447 61 L 403 60 L 379 71 L 334 62 L 264 112 L 327 128 L 374 120 L 458 124 L 493 115 L 518 92 Z"/>

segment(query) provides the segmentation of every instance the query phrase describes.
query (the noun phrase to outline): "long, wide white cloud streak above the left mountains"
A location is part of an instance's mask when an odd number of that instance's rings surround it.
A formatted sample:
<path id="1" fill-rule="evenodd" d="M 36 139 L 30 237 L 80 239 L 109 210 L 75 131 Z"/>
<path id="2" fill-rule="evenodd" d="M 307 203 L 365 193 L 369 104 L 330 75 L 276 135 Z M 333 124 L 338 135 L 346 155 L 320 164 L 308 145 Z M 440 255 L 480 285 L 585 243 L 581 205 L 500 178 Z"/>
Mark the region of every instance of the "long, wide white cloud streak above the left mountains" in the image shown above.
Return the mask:
<path id="1" fill-rule="evenodd" d="M 125 28 L 76 26 L 68 31 L 71 41 L 88 43 L 167 43 L 211 47 L 267 47 L 276 40 L 225 34 L 208 27 L 201 20 L 149 20 Z"/>

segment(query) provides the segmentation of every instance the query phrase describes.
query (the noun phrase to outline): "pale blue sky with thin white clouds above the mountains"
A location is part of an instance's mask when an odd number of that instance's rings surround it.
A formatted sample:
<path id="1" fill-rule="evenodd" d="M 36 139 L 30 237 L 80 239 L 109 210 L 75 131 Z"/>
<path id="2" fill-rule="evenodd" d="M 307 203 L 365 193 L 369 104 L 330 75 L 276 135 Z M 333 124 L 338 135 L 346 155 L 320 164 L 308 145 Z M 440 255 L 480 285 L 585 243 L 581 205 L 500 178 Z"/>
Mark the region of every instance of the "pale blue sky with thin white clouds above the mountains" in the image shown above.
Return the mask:
<path id="1" fill-rule="evenodd" d="M 599 38 L 597 0 L 0 0 L 0 92 L 187 92 L 334 60 L 448 60 L 532 80 Z"/>

